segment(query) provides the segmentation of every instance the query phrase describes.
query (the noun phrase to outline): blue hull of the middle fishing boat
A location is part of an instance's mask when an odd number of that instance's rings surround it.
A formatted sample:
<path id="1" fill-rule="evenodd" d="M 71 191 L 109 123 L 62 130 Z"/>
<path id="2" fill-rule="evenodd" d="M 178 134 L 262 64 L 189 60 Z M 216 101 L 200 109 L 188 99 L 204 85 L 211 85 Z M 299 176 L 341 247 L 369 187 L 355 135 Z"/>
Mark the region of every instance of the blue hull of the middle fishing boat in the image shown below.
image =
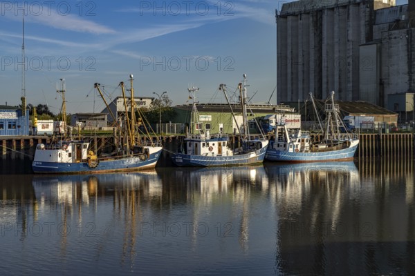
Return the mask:
<path id="1" fill-rule="evenodd" d="M 205 155 L 186 155 L 174 153 L 172 161 L 176 166 L 240 166 L 246 164 L 258 164 L 264 161 L 266 147 L 253 152 L 232 156 L 205 156 Z"/>

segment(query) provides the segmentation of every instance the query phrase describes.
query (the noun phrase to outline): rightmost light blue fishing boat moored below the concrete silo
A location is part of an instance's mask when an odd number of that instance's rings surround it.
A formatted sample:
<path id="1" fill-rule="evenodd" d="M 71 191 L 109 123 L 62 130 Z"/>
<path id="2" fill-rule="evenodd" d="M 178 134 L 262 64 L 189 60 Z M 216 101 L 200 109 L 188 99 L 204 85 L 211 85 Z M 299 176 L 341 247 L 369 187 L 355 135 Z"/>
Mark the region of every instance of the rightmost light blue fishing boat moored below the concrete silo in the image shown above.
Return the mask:
<path id="1" fill-rule="evenodd" d="M 359 139 L 357 135 L 347 132 L 344 127 L 340 119 L 339 105 L 334 101 L 334 92 L 331 92 L 324 104 L 326 115 L 324 121 L 318 116 L 313 95 L 310 96 L 320 126 L 320 132 L 314 136 L 320 137 L 322 134 L 322 138 L 313 141 L 309 132 L 277 126 L 275 139 L 270 141 L 266 152 L 266 160 L 284 162 L 353 160 Z"/>

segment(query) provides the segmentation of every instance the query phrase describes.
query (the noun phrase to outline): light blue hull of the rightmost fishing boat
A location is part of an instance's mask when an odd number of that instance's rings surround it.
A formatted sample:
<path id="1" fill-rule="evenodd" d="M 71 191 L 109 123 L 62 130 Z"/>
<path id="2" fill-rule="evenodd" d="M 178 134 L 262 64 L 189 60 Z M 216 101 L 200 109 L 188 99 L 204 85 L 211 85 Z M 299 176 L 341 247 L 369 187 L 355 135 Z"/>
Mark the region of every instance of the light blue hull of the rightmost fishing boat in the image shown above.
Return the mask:
<path id="1" fill-rule="evenodd" d="M 326 152 L 288 152 L 268 148 L 265 159 L 268 161 L 282 162 L 318 162 L 318 161 L 350 161 L 353 160 L 358 144 L 341 150 Z"/>

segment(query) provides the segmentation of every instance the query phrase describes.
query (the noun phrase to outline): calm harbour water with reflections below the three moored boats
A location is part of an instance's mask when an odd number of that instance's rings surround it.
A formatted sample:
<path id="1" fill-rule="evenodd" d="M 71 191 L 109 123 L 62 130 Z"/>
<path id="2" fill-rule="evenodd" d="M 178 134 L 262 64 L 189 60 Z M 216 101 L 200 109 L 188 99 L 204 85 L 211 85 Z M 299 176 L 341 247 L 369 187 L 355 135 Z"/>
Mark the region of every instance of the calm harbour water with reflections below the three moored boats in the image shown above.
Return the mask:
<path id="1" fill-rule="evenodd" d="M 1 275 L 415 275 L 414 162 L 42 176 L 1 159 Z"/>

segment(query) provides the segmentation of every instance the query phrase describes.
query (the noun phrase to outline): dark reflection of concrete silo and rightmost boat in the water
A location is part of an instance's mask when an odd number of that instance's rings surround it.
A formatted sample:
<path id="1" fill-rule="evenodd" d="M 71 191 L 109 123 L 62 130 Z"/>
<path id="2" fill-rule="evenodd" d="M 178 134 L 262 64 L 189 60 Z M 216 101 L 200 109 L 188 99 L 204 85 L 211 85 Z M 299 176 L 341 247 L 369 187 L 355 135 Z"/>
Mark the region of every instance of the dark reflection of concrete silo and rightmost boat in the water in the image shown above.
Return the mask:
<path id="1" fill-rule="evenodd" d="M 279 273 L 412 274 L 413 193 L 405 200 L 412 170 L 408 187 L 387 170 L 361 177 L 353 162 L 267 166 L 277 185 Z"/>

